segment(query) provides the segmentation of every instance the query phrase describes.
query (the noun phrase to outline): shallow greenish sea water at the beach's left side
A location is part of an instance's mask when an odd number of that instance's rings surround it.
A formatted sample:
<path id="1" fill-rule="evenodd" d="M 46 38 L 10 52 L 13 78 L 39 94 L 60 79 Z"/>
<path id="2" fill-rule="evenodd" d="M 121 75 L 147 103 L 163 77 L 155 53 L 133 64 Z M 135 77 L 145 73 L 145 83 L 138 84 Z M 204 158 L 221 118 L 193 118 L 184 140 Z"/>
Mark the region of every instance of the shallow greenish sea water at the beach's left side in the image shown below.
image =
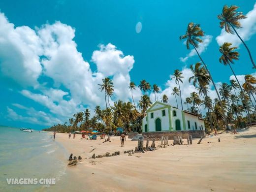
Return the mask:
<path id="1" fill-rule="evenodd" d="M 0 127 L 0 192 L 49 191 L 51 185 L 8 185 L 6 178 L 55 178 L 66 171 L 67 152 L 45 132 Z"/>

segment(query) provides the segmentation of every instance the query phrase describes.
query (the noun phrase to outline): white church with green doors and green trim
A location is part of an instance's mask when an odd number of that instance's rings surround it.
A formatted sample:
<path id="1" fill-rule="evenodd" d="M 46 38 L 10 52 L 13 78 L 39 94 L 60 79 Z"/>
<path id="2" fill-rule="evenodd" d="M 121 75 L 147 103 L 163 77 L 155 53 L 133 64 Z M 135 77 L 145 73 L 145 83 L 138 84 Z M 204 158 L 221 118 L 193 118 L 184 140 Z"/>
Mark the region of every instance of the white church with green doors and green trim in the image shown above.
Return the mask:
<path id="1" fill-rule="evenodd" d="M 143 132 L 205 130 L 203 119 L 168 105 L 155 102 L 142 120 Z"/>

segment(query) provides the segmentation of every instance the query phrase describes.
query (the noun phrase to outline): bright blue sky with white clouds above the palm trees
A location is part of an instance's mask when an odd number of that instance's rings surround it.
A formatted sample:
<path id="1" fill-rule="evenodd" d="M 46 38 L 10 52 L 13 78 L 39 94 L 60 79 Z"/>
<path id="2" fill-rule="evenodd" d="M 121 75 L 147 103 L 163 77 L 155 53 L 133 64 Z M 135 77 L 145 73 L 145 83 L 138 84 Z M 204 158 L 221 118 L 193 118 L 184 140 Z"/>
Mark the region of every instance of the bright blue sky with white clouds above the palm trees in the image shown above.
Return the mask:
<path id="1" fill-rule="evenodd" d="M 86 107 L 93 110 L 99 104 L 104 108 L 97 84 L 106 76 L 113 78 L 113 101 L 129 100 L 128 83 L 138 85 L 146 79 L 161 87 L 159 99 L 166 94 L 174 105 L 171 89 L 175 83 L 170 75 L 180 69 L 189 78 L 186 66 L 199 61 L 179 40 L 189 22 L 200 23 L 206 34 L 201 55 L 214 81 L 232 78 L 230 69 L 218 61 L 219 44 L 224 41 L 239 47 L 240 60 L 234 70 L 242 81 L 244 74 L 255 71 L 239 39 L 219 28 L 217 15 L 224 4 L 236 4 L 244 14 L 251 11 L 240 33 L 256 60 L 255 3 L 1 0 L 0 125 L 44 128 L 68 121 L 71 114 Z M 138 22 L 142 24 L 140 32 L 135 30 Z M 185 81 L 184 98 L 194 89 Z M 136 101 L 140 95 L 135 90 Z"/>

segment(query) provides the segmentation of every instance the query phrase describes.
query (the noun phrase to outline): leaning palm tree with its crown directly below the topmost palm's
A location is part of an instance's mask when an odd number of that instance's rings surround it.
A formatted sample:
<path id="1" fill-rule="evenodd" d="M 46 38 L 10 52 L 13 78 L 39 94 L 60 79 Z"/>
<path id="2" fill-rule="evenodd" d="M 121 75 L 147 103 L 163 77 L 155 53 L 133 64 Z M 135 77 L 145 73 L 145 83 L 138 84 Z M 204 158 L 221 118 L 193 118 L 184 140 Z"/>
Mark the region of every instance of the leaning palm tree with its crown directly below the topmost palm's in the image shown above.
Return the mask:
<path id="1" fill-rule="evenodd" d="M 243 97 L 245 97 L 244 95 L 244 91 L 235 75 L 235 72 L 233 70 L 233 68 L 231 67 L 230 63 L 231 64 L 234 64 L 233 60 L 238 60 L 239 59 L 239 53 L 237 51 L 235 51 L 235 49 L 237 47 L 230 47 L 232 45 L 232 43 L 227 43 L 225 42 L 221 47 L 220 47 L 220 52 L 222 53 L 222 56 L 220 57 L 219 61 L 220 63 L 223 63 L 224 65 L 227 65 L 230 67 L 233 75 L 235 76 L 235 79 L 240 87 L 240 90 L 241 90 L 241 94 Z M 251 115 L 250 115 L 250 112 L 249 112 L 249 108 L 248 106 L 246 106 L 246 110 L 248 112 L 248 121 L 250 123 L 250 126 L 252 126 L 252 122 L 251 122 Z"/>

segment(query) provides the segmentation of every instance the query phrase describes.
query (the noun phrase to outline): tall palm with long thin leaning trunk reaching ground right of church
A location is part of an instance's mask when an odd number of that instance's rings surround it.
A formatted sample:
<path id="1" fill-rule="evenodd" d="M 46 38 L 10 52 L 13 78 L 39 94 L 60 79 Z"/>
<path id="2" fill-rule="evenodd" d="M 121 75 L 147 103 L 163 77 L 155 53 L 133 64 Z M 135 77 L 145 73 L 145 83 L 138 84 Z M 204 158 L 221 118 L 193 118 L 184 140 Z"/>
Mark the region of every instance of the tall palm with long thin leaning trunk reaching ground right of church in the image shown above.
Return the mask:
<path id="1" fill-rule="evenodd" d="M 224 109 L 223 109 L 223 104 L 222 104 L 222 101 L 221 101 L 221 97 L 218 93 L 218 90 L 217 90 L 217 87 L 213 81 L 213 78 L 211 76 L 211 73 L 210 71 L 208 70 L 207 68 L 207 65 L 204 63 L 203 59 L 201 58 L 200 54 L 198 53 L 197 49 L 198 48 L 198 43 L 202 43 L 203 40 L 200 39 L 200 37 L 204 36 L 204 32 L 201 30 L 200 28 L 200 25 L 199 24 L 194 24 L 194 23 L 189 23 L 188 25 L 188 28 L 187 28 L 187 32 L 185 35 L 182 35 L 180 36 L 180 39 L 187 39 L 187 49 L 190 49 L 190 44 L 193 46 L 194 50 L 196 51 L 198 57 L 200 58 L 201 62 L 203 63 L 207 73 L 209 74 L 210 76 L 210 79 L 213 83 L 213 86 L 214 86 L 214 89 L 215 89 L 215 92 L 220 100 L 220 104 L 221 104 L 221 107 L 222 107 L 222 112 L 224 112 Z M 223 114 L 224 116 L 224 121 L 225 121 L 225 126 L 226 128 L 228 129 L 228 125 L 227 125 L 227 120 L 226 120 L 226 115 Z"/>

